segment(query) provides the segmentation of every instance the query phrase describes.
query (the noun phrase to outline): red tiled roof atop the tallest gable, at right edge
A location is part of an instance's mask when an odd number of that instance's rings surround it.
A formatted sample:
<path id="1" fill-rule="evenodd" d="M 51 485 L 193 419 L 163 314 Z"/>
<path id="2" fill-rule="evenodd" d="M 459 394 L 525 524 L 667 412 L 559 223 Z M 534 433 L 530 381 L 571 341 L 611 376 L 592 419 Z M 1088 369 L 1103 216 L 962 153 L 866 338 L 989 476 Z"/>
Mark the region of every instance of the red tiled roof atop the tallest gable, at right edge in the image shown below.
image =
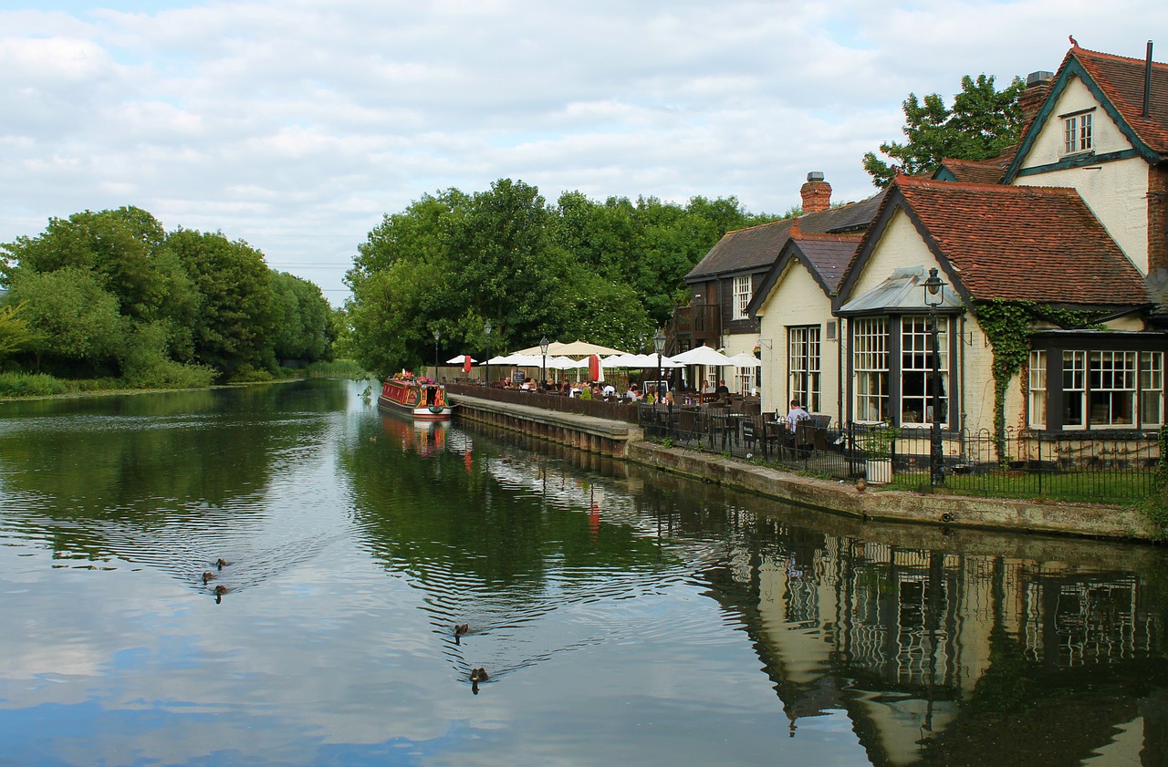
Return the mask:
<path id="1" fill-rule="evenodd" d="M 1152 62 L 1150 114 L 1143 117 L 1146 61 L 1071 48 L 1059 72 L 1076 60 L 1148 147 L 1168 156 L 1168 64 Z M 1057 79 L 1057 75 L 1056 75 Z"/>

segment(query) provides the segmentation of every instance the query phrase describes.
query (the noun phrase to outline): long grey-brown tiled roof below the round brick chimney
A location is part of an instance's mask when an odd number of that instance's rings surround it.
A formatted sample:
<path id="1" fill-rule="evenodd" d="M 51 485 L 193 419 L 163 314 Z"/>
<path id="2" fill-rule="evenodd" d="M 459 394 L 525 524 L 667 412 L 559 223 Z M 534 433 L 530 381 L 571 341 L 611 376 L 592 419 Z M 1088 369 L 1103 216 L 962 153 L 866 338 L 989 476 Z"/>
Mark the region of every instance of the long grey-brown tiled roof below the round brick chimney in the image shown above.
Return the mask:
<path id="1" fill-rule="evenodd" d="M 839 208 L 799 217 L 804 233 L 840 233 L 862 231 L 871 223 L 884 198 L 884 191 Z M 687 281 L 696 281 L 716 274 L 759 271 L 774 263 L 791 237 L 791 218 L 749 229 L 729 231 L 722 236 L 710 252 L 686 276 Z"/>

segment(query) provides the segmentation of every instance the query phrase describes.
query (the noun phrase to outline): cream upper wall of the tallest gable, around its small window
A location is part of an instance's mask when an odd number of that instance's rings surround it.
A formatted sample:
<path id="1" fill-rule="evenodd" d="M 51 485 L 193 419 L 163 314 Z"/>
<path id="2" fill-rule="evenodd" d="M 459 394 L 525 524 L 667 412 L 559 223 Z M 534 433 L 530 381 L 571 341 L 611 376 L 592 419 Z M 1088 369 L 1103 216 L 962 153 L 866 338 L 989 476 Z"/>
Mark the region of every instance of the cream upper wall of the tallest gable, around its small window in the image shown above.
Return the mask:
<path id="1" fill-rule="evenodd" d="M 1021 168 L 1054 165 L 1063 158 L 1059 114 L 1097 107 L 1092 112 L 1092 141 L 1097 155 L 1132 148 L 1119 126 L 1075 77 L 1062 92 L 1050 119 L 1035 138 Z M 1112 160 L 1078 168 L 1020 175 L 1015 186 L 1073 187 L 1141 273 L 1148 273 L 1148 165 L 1142 158 Z"/>

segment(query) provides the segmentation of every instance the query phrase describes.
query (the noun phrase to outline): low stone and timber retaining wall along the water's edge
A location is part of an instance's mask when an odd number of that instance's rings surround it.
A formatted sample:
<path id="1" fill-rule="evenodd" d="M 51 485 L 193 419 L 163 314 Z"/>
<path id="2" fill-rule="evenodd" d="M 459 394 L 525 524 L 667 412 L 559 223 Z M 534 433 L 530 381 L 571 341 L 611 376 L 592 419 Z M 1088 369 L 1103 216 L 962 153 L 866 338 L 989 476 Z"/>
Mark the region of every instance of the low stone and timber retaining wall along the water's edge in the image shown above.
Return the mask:
<path id="1" fill-rule="evenodd" d="M 843 481 L 821 480 L 716 453 L 649 442 L 641 430 L 623 421 L 464 396 L 453 399 L 463 405 L 461 411 L 456 409 L 456 414 L 470 416 L 472 420 L 860 520 L 1148 542 L 1161 537 L 1148 517 L 1131 507 L 861 490 Z M 485 418 L 484 413 L 489 417 Z M 589 439 L 589 434 L 596 439 Z"/>

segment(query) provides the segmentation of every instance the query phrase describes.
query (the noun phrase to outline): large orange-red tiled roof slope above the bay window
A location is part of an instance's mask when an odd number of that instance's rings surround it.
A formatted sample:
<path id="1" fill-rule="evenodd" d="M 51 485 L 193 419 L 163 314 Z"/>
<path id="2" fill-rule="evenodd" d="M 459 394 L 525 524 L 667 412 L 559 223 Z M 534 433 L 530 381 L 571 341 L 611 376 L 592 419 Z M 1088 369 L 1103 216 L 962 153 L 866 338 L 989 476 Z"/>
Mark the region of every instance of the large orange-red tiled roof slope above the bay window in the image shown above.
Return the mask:
<path id="1" fill-rule="evenodd" d="M 951 277 L 974 300 L 1138 306 L 1143 278 L 1078 191 L 1056 187 L 919 181 L 898 176 L 903 201 Z M 869 230 L 865 244 L 877 236 Z M 867 250 L 867 246 L 862 249 Z"/>

